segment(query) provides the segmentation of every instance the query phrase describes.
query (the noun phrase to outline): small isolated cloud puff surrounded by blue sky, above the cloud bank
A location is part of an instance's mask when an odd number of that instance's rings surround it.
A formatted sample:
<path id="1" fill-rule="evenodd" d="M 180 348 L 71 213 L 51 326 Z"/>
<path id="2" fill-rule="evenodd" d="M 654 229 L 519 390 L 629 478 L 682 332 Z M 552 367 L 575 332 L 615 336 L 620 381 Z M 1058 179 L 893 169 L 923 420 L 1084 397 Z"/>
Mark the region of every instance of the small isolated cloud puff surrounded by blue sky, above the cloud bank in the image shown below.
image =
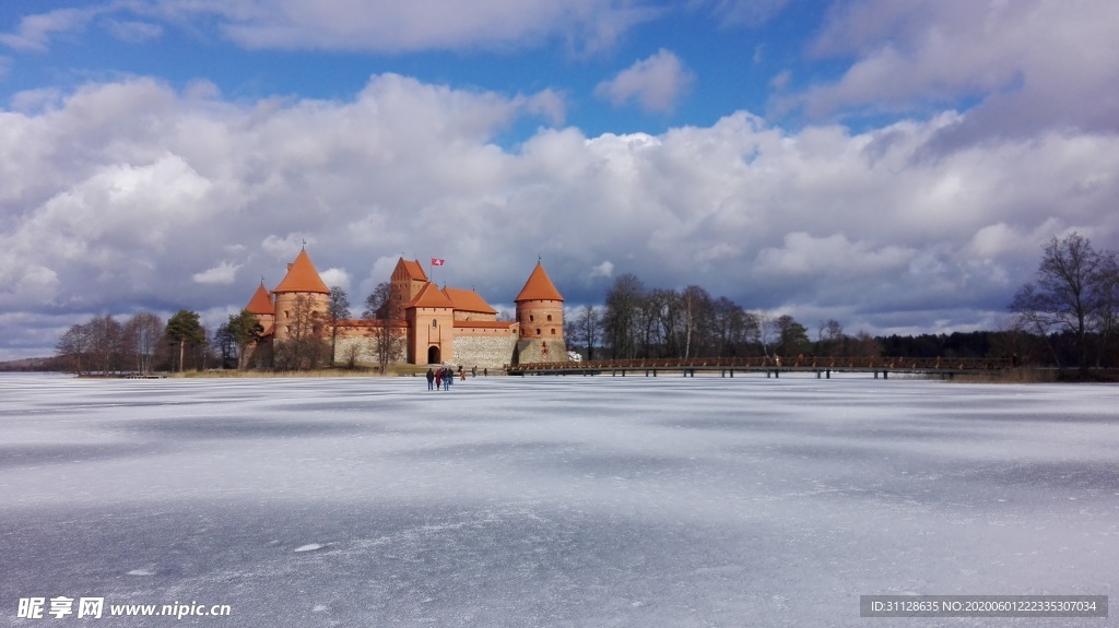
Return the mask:
<path id="1" fill-rule="evenodd" d="M 695 76 L 679 57 L 661 49 L 637 61 L 614 78 L 600 83 L 594 95 L 620 106 L 633 99 L 650 112 L 670 112 L 687 92 Z"/>

